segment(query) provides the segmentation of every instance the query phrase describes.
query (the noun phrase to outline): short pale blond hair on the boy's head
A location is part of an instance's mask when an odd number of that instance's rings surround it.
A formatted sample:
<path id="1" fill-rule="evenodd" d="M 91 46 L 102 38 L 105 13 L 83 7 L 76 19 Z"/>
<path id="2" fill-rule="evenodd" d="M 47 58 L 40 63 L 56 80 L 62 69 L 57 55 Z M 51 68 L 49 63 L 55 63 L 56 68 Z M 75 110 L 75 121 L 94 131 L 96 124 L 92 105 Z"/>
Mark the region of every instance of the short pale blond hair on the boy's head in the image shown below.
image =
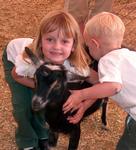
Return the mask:
<path id="1" fill-rule="evenodd" d="M 102 12 L 92 17 L 85 25 L 85 33 L 99 38 L 106 43 L 122 43 L 125 25 L 122 20 L 109 12 Z"/>

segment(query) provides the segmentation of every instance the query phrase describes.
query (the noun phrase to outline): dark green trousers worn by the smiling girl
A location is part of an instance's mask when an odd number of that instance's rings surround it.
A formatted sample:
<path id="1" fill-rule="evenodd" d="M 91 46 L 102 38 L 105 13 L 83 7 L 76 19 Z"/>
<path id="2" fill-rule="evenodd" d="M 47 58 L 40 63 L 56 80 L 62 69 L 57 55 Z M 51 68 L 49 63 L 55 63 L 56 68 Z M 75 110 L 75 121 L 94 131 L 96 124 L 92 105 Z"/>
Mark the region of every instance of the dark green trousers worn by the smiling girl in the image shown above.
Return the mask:
<path id="1" fill-rule="evenodd" d="M 11 76 L 14 64 L 7 60 L 6 49 L 4 50 L 3 66 L 5 79 L 12 94 L 13 116 L 17 122 L 16 143 L 19 148 L 38 147 L 38 140 L 48 138 L 48 130 L 42 113 L 35 113 L 31 109 L 33 91 L 19 83 Z"/>

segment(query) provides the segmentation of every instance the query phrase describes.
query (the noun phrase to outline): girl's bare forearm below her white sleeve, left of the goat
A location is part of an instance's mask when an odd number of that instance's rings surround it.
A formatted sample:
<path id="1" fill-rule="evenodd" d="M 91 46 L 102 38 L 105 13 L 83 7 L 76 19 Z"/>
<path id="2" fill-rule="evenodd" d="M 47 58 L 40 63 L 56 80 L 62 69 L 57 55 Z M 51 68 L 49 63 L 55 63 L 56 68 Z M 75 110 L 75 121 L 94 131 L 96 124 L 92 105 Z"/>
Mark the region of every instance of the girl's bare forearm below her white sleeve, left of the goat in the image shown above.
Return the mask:
<path id="1" fill-rule="evenodd" d="M 33 78 L 20 76 L 16 73 L 15 69 L 16 67 L 14 67 L 11 72 L 11 75 L 15 81 L 17 81 L 18 83 L 24 86 L 35 88 L 35 82 Z"/>

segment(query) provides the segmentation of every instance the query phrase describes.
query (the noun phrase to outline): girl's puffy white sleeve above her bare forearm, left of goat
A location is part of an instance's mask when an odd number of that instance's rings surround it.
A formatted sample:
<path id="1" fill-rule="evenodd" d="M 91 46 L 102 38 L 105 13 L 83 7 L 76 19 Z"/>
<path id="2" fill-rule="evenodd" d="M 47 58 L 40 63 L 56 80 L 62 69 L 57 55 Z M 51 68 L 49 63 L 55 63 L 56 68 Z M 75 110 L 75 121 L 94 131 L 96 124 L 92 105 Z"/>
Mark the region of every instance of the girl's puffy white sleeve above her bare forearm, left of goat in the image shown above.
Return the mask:
<path id="1" fill-rule="evenodd" d="M 36 67 L 32 64 L 31 60 L 24 59 L 22 55 L 18 55 L 15 59 L 16 73 L 24 77 L 34 77 Z"/>

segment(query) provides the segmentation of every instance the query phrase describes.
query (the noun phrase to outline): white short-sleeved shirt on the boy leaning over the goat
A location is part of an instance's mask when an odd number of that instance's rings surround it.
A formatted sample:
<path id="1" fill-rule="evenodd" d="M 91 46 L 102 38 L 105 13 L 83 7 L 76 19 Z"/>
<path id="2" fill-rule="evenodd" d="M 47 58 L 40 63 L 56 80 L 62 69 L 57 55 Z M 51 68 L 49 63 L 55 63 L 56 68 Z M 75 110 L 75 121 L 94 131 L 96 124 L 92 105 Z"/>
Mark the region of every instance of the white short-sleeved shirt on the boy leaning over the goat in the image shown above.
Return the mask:
<path id="1" fill-rule="evenodd" d="M 136 52 L 122 48 L 103 56 L 98 64 L 100 82 L 119 82 L 121 91 L 112 96 L 136 120 Z"/>

